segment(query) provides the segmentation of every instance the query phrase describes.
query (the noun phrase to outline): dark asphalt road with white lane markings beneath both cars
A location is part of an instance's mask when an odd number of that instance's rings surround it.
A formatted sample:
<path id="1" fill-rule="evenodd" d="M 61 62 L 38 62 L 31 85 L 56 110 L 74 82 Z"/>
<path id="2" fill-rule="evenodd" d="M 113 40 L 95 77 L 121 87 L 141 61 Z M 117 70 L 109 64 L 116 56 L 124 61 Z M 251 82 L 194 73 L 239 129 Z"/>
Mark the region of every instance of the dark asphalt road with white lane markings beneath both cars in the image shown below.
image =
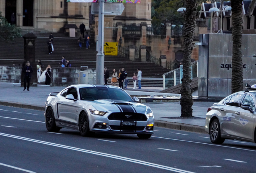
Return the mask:
<path id="1" fill-rule="evenodd" d="M 44 112 L 0 106 L 0 173 L 255 173 L 256 145 L 155 128 L 150 139 L 48 133 Z"/>

